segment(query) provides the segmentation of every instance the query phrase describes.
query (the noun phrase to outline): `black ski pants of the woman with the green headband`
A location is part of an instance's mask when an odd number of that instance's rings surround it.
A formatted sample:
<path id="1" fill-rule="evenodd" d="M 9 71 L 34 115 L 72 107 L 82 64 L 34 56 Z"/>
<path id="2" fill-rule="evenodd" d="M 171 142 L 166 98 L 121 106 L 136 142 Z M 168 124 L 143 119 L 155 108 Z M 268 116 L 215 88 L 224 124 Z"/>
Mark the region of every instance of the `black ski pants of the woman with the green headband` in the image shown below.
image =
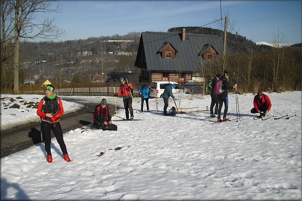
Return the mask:
<path id="1" fill-rule="evenodd" d="M 45 151 L 47 155 L 51 154 L 50 143 L 51 143 L 51 131 L 53 132 L 58 144 L 60 145 L 63 154 L 67 154 L 66 145 L 63 139 L 63 131 L 60 122 L 50 124 L 48 122 L 41 122 L 41 132 L 43 139 L 45 140 Z"/>

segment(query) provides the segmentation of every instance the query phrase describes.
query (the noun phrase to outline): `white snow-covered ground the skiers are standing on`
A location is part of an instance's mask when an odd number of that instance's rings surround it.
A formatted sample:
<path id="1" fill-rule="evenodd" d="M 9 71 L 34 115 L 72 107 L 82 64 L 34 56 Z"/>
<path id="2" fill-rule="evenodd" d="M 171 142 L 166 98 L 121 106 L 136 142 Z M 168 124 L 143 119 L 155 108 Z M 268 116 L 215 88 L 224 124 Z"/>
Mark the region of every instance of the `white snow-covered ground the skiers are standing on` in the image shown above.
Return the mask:
<path id="1" fill-rule="evenodd" d="M 134 98 L 134 118 L 143 121 L 115 121 L 125 117 L 121 109 L 113 117 L 117 131 L 64 134 L 71 162 L 64 161 L 55 139 L 52 163 L 44 143 L 1 158 L 1 200 L 301 200 L 301 91 L 265 94 L 272 102 L 270 116 L 296 116 L 254 120 L 252 93 L 238 95 L 241 121 L 221 124 L 212 124 L 209 113 L 163 116 L 162 98 L 159 111 L 156 99 L 149 99 L 152 112 L 139 114 L 140 98 Z M 23 101 L 20 109 L 9 108 L 11 97 Z M 210 106 L 209 95 L 176 97 L 178 108 L 192 108 L 182 111 Z M 23 104 L 41 95 L 1 98 L 1 130 L 39 121 L 36 109 Z M 97 105 L 104 97 L 73 98 Z M 115 104 L 114 97 L 105 98 Z M 229 93 L 229 101 L 236 118 L 235 94 Z M 116 103 L 122 107 L 122 98 Z M 83 107 L 65 101 L 63 106 L 65 113 Z"/>

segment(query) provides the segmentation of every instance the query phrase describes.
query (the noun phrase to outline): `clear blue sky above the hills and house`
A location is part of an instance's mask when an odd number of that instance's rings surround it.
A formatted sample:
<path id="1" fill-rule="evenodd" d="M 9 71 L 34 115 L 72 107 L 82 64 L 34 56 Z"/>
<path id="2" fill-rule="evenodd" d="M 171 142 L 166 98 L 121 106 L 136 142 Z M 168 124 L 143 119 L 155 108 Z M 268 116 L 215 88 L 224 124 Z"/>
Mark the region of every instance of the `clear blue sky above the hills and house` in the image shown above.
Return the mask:
<path id="1" fill-rule="evenodd" d="M 66 35 L 53 40 L 126 35 L 197 26 L 223 29 L 212 23 L 229 18 L 229 29 L 254 42 L 301 43 L 302 1 L 59 1 L 60 13 L 52 13 Z M 43 14 L 44 15 L 44 14 Z M 37 21 L 44 19 L 37 15 Z M 211 24 L 209 24 L 211 23 Z M 35 41 L 41 41 L 36 39 Z"/>

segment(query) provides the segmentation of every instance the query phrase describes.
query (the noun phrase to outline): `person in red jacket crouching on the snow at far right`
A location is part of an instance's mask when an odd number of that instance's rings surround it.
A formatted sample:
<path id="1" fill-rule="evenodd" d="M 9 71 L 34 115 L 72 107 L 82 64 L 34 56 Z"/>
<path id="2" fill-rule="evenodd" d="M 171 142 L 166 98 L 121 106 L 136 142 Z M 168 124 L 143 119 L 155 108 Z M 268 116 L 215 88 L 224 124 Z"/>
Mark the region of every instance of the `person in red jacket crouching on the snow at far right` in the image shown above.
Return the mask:
<path id="1" fill-rule="evenodd" d="M 269 97 L 261 91 L 255 95 L 253 104 L 254 108 L 251 113 L 260 113 L 262 117 L 265 117 L 272 107 Z"/>

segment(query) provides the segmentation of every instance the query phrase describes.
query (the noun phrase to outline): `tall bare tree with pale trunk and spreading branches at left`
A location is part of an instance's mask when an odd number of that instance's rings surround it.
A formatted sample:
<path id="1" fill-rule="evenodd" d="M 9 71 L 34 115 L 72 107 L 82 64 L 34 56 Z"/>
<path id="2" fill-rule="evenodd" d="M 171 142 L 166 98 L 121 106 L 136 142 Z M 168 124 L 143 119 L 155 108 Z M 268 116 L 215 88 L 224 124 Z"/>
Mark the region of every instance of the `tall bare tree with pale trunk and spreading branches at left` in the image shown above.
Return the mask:
<path id="1" fill-rule="evenodd" d="M 57 6 L 52 7 L 51 2 L 57 3 Z M 1 13 L 4 21 L 2 24 L 5 24 L 4 28 L 7 29 L 6 33 L 8 33 L 2 36 L 2 45 L 7 45 L 10 41 L 14 44 L 14 93 L 18 94 L 20 39 L 43 38 L 53 40 L 65 35 L 65 31 L 54 24 L 54 18 L 45 18 L 41 23 L 34 22 L 37 12 L 59 12 L 58 1 L 2 0 L 1 3 L 6 5 L 2 8 Z M 12 37 L 13 40 L 10 40 Z"/>

